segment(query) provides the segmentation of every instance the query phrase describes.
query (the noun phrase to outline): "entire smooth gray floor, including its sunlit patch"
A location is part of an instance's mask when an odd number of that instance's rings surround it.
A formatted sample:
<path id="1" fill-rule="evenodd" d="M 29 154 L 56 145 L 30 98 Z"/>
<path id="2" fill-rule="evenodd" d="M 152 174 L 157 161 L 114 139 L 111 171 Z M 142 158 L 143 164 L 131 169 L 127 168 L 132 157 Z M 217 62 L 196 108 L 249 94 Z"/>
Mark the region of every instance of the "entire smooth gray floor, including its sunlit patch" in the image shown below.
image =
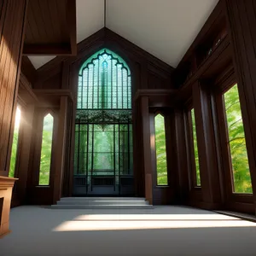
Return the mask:
<path id="1" fill-rule="evenodd" d="M 256 223 L 189 207 L 16 207 L 0 255 L 256 255 Z"/>

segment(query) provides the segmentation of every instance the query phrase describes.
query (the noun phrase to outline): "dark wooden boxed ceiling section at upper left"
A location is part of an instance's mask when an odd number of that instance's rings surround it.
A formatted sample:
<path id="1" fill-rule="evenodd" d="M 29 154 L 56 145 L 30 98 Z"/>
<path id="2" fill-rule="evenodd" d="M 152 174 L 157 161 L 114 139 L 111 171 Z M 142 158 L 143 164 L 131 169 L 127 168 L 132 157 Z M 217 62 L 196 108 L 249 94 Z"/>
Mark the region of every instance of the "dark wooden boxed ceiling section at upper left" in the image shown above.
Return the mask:
<path id="1" fill-rule="evenodd" d="M 76 1 L 28 3 L 24 55 L 76 55 Z"/>

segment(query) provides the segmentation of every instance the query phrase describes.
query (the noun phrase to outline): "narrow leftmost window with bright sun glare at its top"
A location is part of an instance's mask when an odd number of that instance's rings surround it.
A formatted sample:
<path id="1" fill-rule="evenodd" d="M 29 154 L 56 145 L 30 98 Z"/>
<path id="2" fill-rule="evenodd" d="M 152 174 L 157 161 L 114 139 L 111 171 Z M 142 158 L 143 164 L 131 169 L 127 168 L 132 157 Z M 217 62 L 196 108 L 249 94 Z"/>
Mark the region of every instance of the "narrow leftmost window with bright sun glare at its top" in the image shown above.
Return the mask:
<path id="1" fill-rule="evenodd" d="M 10 158 L 9 177 L 15 177 L 15 166 L 16 166 L 19 131 L 20 131 L 20 115 L 21 115 L 21 112 L 20 112 L 20 108 L 18 107 L 16 109 L 16 115 L 15 115 L 15 131 L 14 131 L 14 138 L 13 138 L 11 158 Z"/>

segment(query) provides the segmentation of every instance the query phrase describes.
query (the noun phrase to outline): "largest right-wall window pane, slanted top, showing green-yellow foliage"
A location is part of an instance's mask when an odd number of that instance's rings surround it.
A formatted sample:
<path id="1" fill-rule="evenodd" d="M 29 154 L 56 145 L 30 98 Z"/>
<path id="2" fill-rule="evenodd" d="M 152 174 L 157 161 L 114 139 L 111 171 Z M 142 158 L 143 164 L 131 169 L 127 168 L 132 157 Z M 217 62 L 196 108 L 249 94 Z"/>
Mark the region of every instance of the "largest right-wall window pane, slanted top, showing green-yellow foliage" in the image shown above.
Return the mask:
<path id="1" fill-rule="evenodd" d="M 233 172 L 233 190 L 236 193 L 253 193 L 237 84 L 224 93 L 224 104 L 229 134 L 227 144 L 230 148 Z"/>

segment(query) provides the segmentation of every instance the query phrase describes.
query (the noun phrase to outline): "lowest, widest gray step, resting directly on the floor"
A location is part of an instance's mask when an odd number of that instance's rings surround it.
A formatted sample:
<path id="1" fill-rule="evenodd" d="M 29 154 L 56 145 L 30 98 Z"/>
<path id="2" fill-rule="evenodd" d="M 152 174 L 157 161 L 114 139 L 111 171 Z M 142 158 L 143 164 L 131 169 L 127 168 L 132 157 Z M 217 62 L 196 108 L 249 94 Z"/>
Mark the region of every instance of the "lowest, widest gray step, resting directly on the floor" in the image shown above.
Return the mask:
<path id="1" fill-rule="evenodd" d="M 152 209 L 152 205 L 52 205 L 52 209 Z"/>

